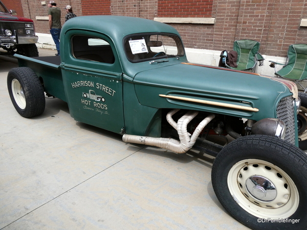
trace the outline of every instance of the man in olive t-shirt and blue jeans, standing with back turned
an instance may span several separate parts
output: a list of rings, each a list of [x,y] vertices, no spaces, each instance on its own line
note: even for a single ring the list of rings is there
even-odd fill
[[[49,2],[49,28],[52,39],[55,43],[55,47],[57,50],[56,56],[60,55],[60,33],[61,33],[61,9],[56,6],[54,1]]]

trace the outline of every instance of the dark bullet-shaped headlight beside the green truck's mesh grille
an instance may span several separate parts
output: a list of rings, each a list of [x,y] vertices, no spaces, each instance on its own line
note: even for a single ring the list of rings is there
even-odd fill
[[[276,118],[261,119],[252,126],[252,134],[277,136],[280,139],[284,139],[286,125],[283,121]]]

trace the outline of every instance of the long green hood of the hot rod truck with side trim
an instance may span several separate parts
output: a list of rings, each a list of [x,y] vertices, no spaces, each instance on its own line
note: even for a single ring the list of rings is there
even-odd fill
[[[262,119],[268,114],[269,117],[275,117],[279,100],[295,95],[291,90],[295,91],[297,88],[292,82],[285,81],[285,84],[276,80],[258,74],[191,63],[160,67],[138,73],[134,77],[140,104],[160,108],[218,111],[232,115],[240,113],[240,116],[251,119],[254,117],[254,120]],[[179,100],[171,97],[178,97]],[[187,98],[192,101],[184,101]],[[243,112],[201,105],[198,100],[251,107],[255,110]]]

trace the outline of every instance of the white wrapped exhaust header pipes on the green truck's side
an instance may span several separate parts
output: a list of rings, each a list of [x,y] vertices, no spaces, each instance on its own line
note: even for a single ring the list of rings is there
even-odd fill
[[[168,149],[170,151],[176,153],[185,153],[190,150],[196,142],[197,137],[200,135],[201,131],[205,128],[205,126],[215,117],[214,114],[210,114],[206,117],[195,129],[193,134],[191,135],[187,131],[187,126],[189,122],[196,117],[198,111],[188,111],[184,116],[182,116],[178,123],[176,123],[172,116],[179,109],[173,109],[169,111],[166,115],[167,122],[177,130],[179,135],[179,140],[177,141],[172,138],[163,138],[163,137],[149,137],[149,136],[138,136],[138,135],[130,135],[124,134],[123,135],[123,142],[127,143],[135,143],[135,144],[142,144],[142,145],[150,145],[156,146],[159,148]]]

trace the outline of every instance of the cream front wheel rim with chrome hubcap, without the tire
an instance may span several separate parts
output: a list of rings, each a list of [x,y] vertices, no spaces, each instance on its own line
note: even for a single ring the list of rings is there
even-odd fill
[[[299,195],[293,180],[265,160],[236,163],[228,173],[227,184],[241,208],[258,218],[288,218],[298,208]]]

